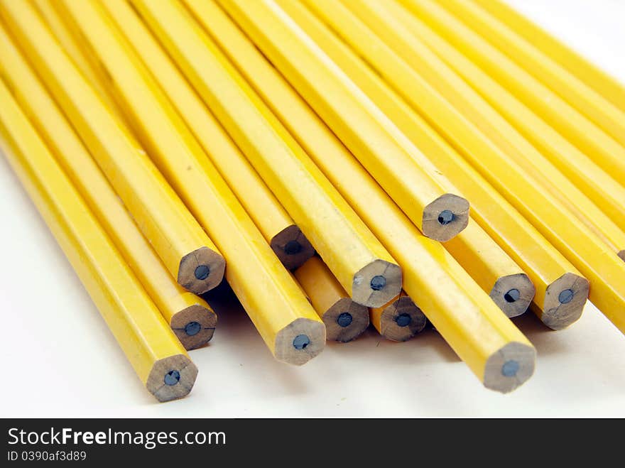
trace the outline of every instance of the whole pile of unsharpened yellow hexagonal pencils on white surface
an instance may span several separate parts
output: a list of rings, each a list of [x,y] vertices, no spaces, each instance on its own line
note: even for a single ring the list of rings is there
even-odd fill
[[[159,401],[222,278],[280,361],[429,321],[504,393],[510,317],[625,331],[625,89],[501,1],[0,13],[1,150]]]

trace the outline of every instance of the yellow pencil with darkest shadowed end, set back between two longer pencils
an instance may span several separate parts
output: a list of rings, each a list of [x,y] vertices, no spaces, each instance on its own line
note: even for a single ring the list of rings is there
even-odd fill
[[[315,254],[312,245],[205,107],[136,12],[124,0],[105,0],[101,4],[178,109],[180,116],[237,195],[278,259],[289,270],[302,265]]]

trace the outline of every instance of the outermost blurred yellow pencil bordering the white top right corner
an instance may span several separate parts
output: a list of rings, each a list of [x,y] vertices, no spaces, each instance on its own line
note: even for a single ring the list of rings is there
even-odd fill
[[[526,40],[531,41],[543,53],[549,55],[570,73],[592,87],[609,102],[625,112],[625,87],[614,77],[608,75],[596,65],[570,49],[565,43],[521,15],[501,0],[477,0],[491,15]]]

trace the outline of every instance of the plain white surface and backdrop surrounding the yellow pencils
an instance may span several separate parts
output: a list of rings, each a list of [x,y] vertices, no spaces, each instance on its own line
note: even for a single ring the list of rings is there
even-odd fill
[[[511,3],[625,82],[624,1]],[[0,219],[1,416],[625,416],[625,339],[592,305],[562,332],[531,312],[515,320],[538,363],[504,396],[432,330],[402,344],[368,331],[303,367],[280,364],[227,293],[214,300],[214,339],[190,353],[192,393],[158,404],[4,158]]]

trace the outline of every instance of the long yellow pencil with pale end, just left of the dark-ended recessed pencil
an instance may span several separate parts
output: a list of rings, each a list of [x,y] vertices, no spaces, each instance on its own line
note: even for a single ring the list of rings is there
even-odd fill
[[[226,278],[276,359],[301,365],[317,356],[325,346],[322,321],[102,6],[55,6],[116,83],[114,98],[158,168],[219,243]]]

